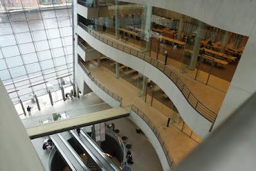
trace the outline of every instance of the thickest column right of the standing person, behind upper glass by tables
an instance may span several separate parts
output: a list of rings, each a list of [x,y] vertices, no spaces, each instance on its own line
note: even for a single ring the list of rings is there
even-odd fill
[[[199,49],[201,46],[201,37],[202,37],[204,31],[205,31],[205,23],[199,21],[198,27],[197,27],[197,34],[196,34],[196,38],[195,38],[195,42],[194,42],[193,53],[190,58],[189,69],[191,69],[191,70],[194,70],[196,67],[196,61],[197,61],[197,57],[199,55]]]

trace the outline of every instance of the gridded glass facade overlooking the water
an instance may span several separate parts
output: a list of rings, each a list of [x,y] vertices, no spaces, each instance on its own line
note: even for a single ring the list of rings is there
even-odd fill
[[[0,78],[19,114],[73,84],[72,1],[0,0]],[[60,91],[61,92],[61,91]],[[56,96],[55,96],[56,94]],[[62,98],[62,96],[60,96]]]

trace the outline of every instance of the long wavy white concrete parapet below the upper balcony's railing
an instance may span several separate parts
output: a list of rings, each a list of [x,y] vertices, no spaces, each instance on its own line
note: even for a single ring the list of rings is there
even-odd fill
[[[188,104],[178,87],[176,87],[176,85],[165,74],[140,58],[108,46],[107,44],[104,44],[104,42],[100,42],[100,40],[97,40],[93,36],[89,35],[89,33],[80,28],[80,26],[77,26],[77,33],[80,37],[82,37],[82,39],[86,40],[90,46],[98,49],[100,53],[125,66],[135,69],[158,84],[159,87],[163,89],[163,91],[170,97],[181,114],[181,117],[187,123],[190,129],[196,132],[196,134],[199,136],[205,138],[205,136],[208,134],[211,123],[197,113],[197,111],[190,104]]]

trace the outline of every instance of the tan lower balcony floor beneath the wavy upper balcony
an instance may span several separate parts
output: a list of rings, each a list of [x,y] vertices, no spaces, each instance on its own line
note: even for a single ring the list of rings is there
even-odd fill
[[[178,164],[179,161],[185,158],[198,145],[197,141],[189,138],[174,125],[166,127],[168,117],[154,107],[151,107],[151,105],[143,102],[141,98],[138,98],[138,92],[134,89],[133,85],[127,84],[122,78],[114,78],[114,74],[104,67],[98,68],[91,63],[87,63],[86,67],[105,87],[123,98],[123,106],[136,105],[136,107],[154,122],[154,125],[158,127],[160,134],[163,136],[163,140],[169,149],[170,157],[174,159],[174,163]],[[201,141],[199,137],[197,138],[198,141]]]

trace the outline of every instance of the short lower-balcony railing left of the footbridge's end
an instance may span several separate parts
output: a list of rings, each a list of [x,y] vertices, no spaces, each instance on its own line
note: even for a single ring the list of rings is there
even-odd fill
[[[79,61],[78,64],[82,67],[82,69],[84,69],[84,72],[86,73],[87,76],[89,76],[91,81],[93,81],[100,89],[102,89],[105,93],[107,93],[107,95],[113,97],[115,100],[120,102],[120,105],[122,105],[122,97],[116,95],[115,93],[113,93],[113,91],[110,91],[104,85],[102,85],[100,82],[98,82],[98,80],[96,80],[96,78],[93,75],[91,75],[91,72],[89,72],[86,69],[86,67],[84,66],[84,64],[82,64],[81,61]]]

